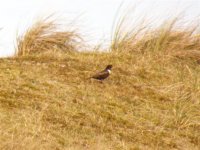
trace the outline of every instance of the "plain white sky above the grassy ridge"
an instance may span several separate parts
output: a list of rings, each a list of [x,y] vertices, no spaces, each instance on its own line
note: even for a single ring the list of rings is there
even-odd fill
[[[164,19],[181,11],[189,20],[200,15],[200,0],[6,0],[0,5],[0,57],[14,54],[17,32],[52,13],[66,22],[78,18],[77,24],[88,44],[108,43],[122,2],[124,7],[119,14],[136,5],[135,18],[148,15]]]

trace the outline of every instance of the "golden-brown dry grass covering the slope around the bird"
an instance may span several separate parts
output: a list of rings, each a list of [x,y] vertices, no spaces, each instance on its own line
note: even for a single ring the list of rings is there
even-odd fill
[[[60,36],[33,25],[0,60],[0,149],[199,149],[200,42],[176,21],[116,29],[106,53],[51,51]],[[87,79],[107,64],[103,84]]]

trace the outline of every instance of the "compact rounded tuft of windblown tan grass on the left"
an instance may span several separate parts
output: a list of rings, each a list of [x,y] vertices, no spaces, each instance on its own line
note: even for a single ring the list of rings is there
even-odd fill
[[[47,17],[34,23],[22,36],[17,37],[16,56],[45,51],[76,51],[82,43],[77,30],[67,29]]]

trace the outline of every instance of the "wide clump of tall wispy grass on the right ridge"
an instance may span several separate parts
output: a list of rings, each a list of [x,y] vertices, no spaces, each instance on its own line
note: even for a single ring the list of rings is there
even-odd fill
[[[187,50],[190,56],[194,53],[199,55],[197,52],[200,50],[199,24],[186,24],[180,17],[174,17],[163,21],[157,27],[150,26],[145,18],[135,21],[135,25],[130,26],[132,20],[134,18],[125,15],[116,22],[112,51],[142,53],[164,51],[168,54],[181,55]]]

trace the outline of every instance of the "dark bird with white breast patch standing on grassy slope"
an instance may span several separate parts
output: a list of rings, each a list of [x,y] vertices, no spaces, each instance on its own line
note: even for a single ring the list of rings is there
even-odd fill
[[[91,76],[90,78],[103,81],[104,79],[109,77],[109,75],[111,74],[111,69],[112,65],[107,65],[107,67],[103,71]]]

